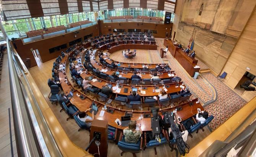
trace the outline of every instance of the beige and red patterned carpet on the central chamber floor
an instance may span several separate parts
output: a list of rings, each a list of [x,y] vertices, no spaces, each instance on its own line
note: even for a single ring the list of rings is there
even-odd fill
[[[193,97],[198,97],[203,103],[212,101],[214,94],[208,84],[214,86],[217,91],[217,100],[207,105],[205,110],[209,115],[213,115],[214,119],[209,124],[212,130],[215,130],[219,125],[223,124],[229,117],[236,113],[246,101],[240,98],[235,92],[229,89],[225,84],[219,81],[214,75],[208,73],[203,77],[208,81],[206,82],[201,76],[194,80],[186,74],[179,63],[173,58],[170,53],[163,59],[160,58],[160,48],[164,48],[164,39],[156,38],[157,50],[137,50],[136,57],[133,59],[126,59],[121,56],[121,52],[114,52],[109,57],[113,60],[128,63],[169,63],[172,70],[182,78],[182,81],[188,86],[193,94]],[[203,62],[198,61],[201,68],[208,68]],[[192,97],[192,98],[193,98]]]

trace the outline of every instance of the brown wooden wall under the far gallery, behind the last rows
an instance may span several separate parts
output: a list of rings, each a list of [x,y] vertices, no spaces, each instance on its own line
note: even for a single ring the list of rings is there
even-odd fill
[[[141,32],[144,32],[144,29],[149,30],[157,30],[157,34],[154,34],[154,37],[156,38],[165,38],[165,33],[170,32],[170,29],[172,28],[171,24],[152,24],[152,23],[140,23],[140,22],[113,22],[113,23],[102,23],[100,22],[100,31],[102,34],[109,33],[109,29],[111,29],[111,32],[113,32],[113,29],[125,29],[126,32],[128,32],[128,29],[141,29]],[[139,24],[139,25],[138,25]],[[166,30],[167,29],[167,30]]]

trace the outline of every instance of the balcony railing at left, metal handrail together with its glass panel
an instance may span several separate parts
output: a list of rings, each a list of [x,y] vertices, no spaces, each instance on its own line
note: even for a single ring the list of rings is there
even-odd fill
[[[8,39],[6,42],[18,156],[62,156],[32,92],[27,69]]]

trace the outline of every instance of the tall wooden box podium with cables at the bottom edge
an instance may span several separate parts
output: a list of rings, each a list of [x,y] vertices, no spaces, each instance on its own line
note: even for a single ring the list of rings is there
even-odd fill
[[[99,145],[99,152],[100,157],[107,157],[107,135],[108,135],[108,122],[103,120],[94,119],[91,125],[91,132],[90,132],[90,141],[94,136],[99,136],[100,139],[98,140],[100,142]],[[95,154],[98,153],[98,147],[95,144],[95,142],[92,143],[92,145],[89,147],[89,153]],[[99,157],[99,154],[95,154],[94,157]]]

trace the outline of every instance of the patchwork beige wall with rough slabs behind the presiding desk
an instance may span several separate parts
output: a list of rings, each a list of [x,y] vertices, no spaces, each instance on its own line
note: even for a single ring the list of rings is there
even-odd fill
[[[202,4],[204,7],[199,16]],[[182,0],[178,18],[175,17],[173,23],[173,31],[177,30],[175,38],[186,48],[193,36],[193,50],[198,59],[219,74],[255,4],[255,0]],[[180,2],[177,10],[179,5]],[[177,19],[180,19],[178,24]]]

